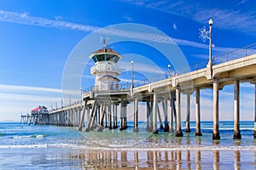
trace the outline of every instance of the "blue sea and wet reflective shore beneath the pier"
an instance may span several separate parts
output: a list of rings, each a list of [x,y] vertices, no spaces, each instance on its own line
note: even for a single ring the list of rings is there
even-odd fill
[[[148,133],[139,123],[90,133],[75,127],[0,122],[0,169],[255,169],[253,122],[241,122],[234,140],[233,122],[220,122],[220,140],[212,140],[212,122],[201,122],[203,136],[181,138],[172,133]],[[183,123],[183,132],[184,132]]]

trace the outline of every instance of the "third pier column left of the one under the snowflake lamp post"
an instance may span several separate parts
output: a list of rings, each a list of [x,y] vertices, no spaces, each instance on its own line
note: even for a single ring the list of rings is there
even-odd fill
[[[176,88],[176,103],[177,103],[177,122],[176,122],[176,136],[182,137],[183,132],[181,130],[181,105],[180,105],[180,89]]]

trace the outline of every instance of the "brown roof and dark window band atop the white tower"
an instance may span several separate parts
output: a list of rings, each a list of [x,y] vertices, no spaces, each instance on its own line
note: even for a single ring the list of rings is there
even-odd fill
[[[113,61],[117,63],[119,59],[122,59],[123,56],[111,48],[101,48],[96,52],[90,54],[90,59],[93,59],[95,62],[98,61]]]

